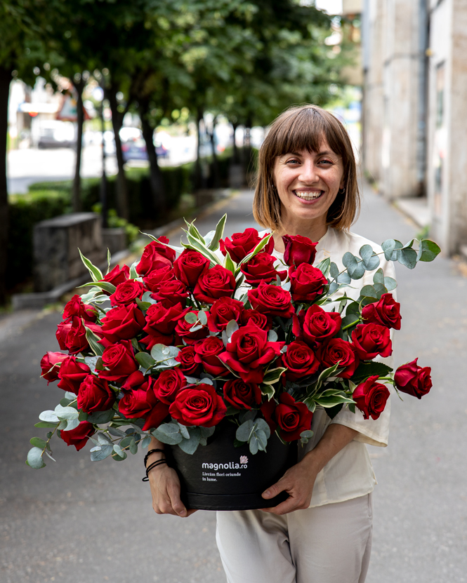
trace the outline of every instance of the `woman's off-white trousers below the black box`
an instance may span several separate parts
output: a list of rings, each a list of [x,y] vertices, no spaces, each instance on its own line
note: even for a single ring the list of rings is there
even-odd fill
[[[217,513],[228,583],[364,583],[371,553],[371,493],[276,516]]]

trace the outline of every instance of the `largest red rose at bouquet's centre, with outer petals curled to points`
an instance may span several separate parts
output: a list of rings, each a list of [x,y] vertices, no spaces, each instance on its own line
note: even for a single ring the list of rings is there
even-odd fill
[[[268,333],[258,326],[243,326],[232,334],[221,361],[244,382],[261,383],[266,365],[280,354],[284,342],[268,342]]]

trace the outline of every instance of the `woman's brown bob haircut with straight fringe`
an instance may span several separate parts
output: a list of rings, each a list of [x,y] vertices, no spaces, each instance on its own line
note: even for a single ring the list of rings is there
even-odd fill
[[[342,123],[317,105],[291,107],[270,125],[258,155],[253,201],[253,215],[261,227],[276,231],[282,226],[281,202],[272,178],[277,156],[305,150],[319,152],[323,138],[331,150],[342,158],[345,187],[345,192],[337,194],[327,212],[327,225],[338,230],[350,229],[360,210],[352,144]]]

